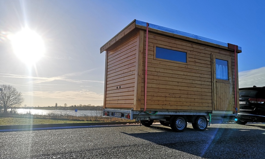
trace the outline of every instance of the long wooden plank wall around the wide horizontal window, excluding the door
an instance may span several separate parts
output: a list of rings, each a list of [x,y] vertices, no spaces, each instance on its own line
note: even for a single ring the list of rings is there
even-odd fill
[[[141,109],[144,108],[146,34],[144,34],[143,39],[144,54]],[[186,50],[184,52],[187,52],[187,64],[154,59],[154,47],[156,45],[160,47],[165,46],[165,48],[173,50]],[[231,52],[155,32],[149,32],[147,110],[212,111],[212,53],[221,56],[231,56],[233,72],[232,81],[234,81],[234,57]]]

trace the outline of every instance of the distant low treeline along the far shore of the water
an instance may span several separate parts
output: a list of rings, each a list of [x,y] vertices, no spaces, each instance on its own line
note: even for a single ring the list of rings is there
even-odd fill
[[[46,110],[102,110],[103,106],[94,105],[72,105],[72,106],[48,106],[48,107],[13,107],[13,109],[46,109]]]

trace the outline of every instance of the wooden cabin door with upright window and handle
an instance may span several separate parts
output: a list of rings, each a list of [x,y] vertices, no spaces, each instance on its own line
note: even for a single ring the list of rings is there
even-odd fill
[[[213,110],[232,111],[233,110],[233,84],[231,57],[213,54]],[[213,113],[214,113],[213,111]]]

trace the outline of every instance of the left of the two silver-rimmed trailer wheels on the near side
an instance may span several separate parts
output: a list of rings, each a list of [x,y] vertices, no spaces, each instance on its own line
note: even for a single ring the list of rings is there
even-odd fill
[[[187,121],[183,116],[175,116],[170,126],[176,132],[183,132],[187,127]]]

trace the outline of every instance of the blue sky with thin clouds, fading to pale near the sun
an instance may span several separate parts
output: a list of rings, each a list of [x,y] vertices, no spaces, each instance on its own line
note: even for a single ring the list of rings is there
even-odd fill
[[[0,84],[21,92],[22,106],[103,105],[100,47],[134,19],[242,47],[239,88],[265,86],[263,0],[0,0]],[[34,65],[12,45],[25,27],[44,43]]]

